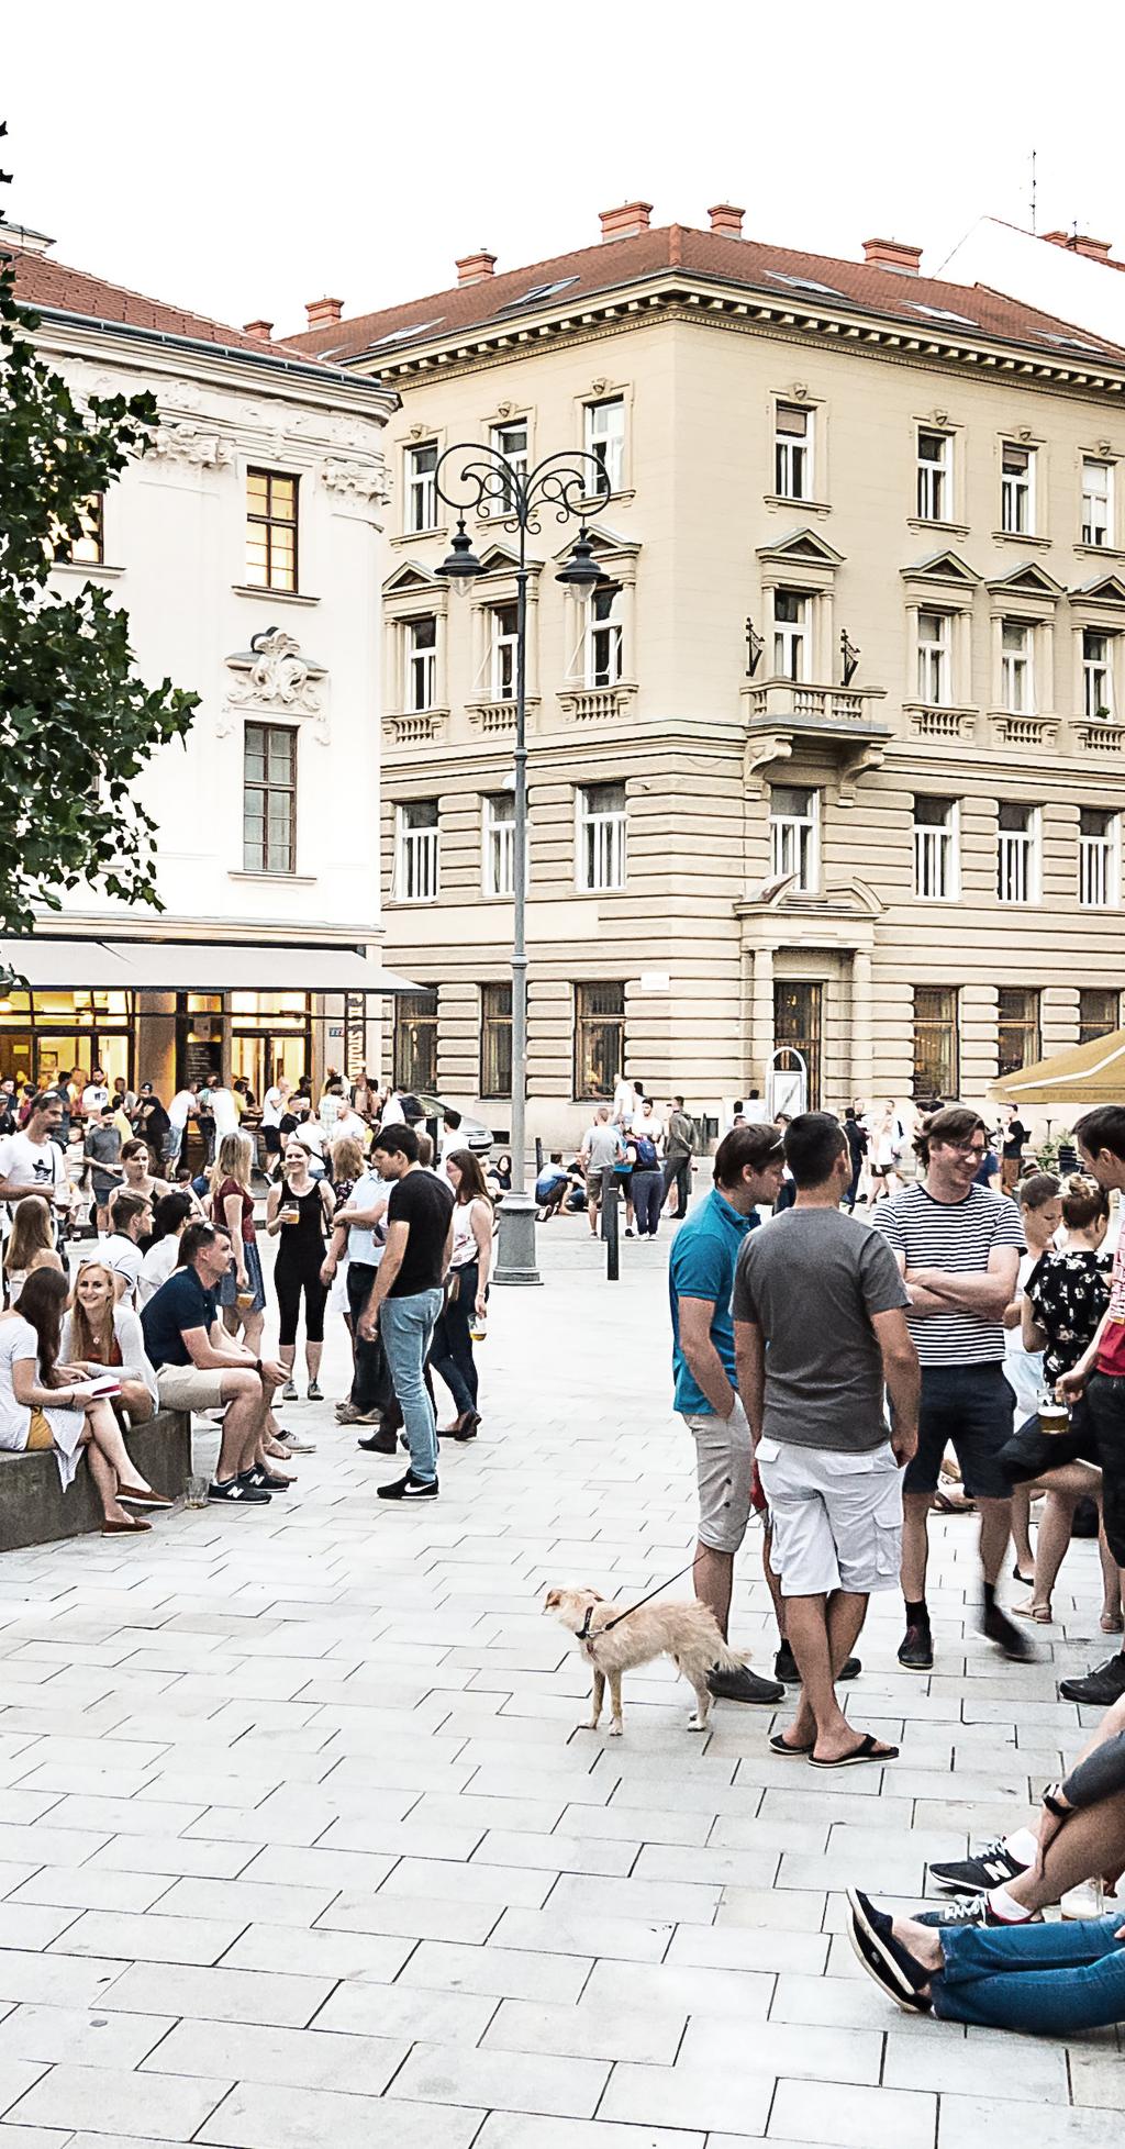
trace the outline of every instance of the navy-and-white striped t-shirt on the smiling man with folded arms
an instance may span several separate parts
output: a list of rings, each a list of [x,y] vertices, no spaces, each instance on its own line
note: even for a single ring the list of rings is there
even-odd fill
[[[947,1268],[953,1277],[983,1274],[994,1246],[1024,1253],[1020,1210],[1007,1195],[970,1186],[964,1201],[934,1201],[925,1186],[904,1186],[880,1201],[872,1223],[885,1234],[906,1268]],[[906,1326],[921,1365],[1003,1362],[1005,1324],[979,1313],[908,1313]]]

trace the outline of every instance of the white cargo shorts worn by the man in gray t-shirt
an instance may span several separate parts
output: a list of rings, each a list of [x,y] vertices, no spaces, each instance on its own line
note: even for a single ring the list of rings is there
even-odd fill
[[[891,1442],[863,1455],[760,1440],[781,1597],[893,1590],[902,1562],[902,1470]]]

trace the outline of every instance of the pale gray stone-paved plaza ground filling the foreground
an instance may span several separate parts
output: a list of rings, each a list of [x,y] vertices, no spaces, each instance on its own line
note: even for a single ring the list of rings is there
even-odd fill
[[[318,1453],[268,1513],[4,1558],[0,2149],[1116,2149],[1114,2031],[908,2020],[842,1932],[848,1883],[917,1900],[1073,1754],[1093,1545],[1020,1670],[970,1631],[975,1524],[934,1524],[934,1674],[887,1597],[850,1689],[893,1766],[773,1758],[788,1711],[693,1739],[670,1665],[627,1676],[625,1739],[575,1730],[545,1588],[691,1558],[666,1253],[608,1285],[582,1221],[541,1234],[432,1506],[376,1504],[395,1466],[301,1403]],[[766,1670],[758,1562],[732,1638]]]

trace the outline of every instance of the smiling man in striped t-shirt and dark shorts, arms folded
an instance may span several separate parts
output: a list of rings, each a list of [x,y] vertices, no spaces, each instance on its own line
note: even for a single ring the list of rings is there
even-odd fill
[[[906,1633],[897,1661],[906,1672],[930,1672],[934,1640],[925,1603],[927,1521],[947,1442],[962,1466],[964,1489],[981,1513],[981,1631],[1005,1657],[1020,1661],[1033,1655],[996,1603],[1011,1534],[1011,1487],[998,1463],[1013,1427],[1003,1315],[1016,1296],[1024,1234],[1016,1203],[975,1184],[988,1152],[985,1124],[977,1111],[945,1105],[930,1113],[917,1150],[925,1176],[882,1201],[872,1223],[897,1255],[910,1292],[906,1324],[921,1362],[919,1451],[902,1483]]]

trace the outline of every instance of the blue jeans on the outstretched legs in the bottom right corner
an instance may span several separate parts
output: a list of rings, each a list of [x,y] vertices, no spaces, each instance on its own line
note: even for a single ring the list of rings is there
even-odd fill
[[[943,2022],[1073,2037],[1125,2022],[1125,1913],[1073,1926],[953,1926],[930,1979]],[[1035,2132],[1035,2130],[1033,2130]]]

